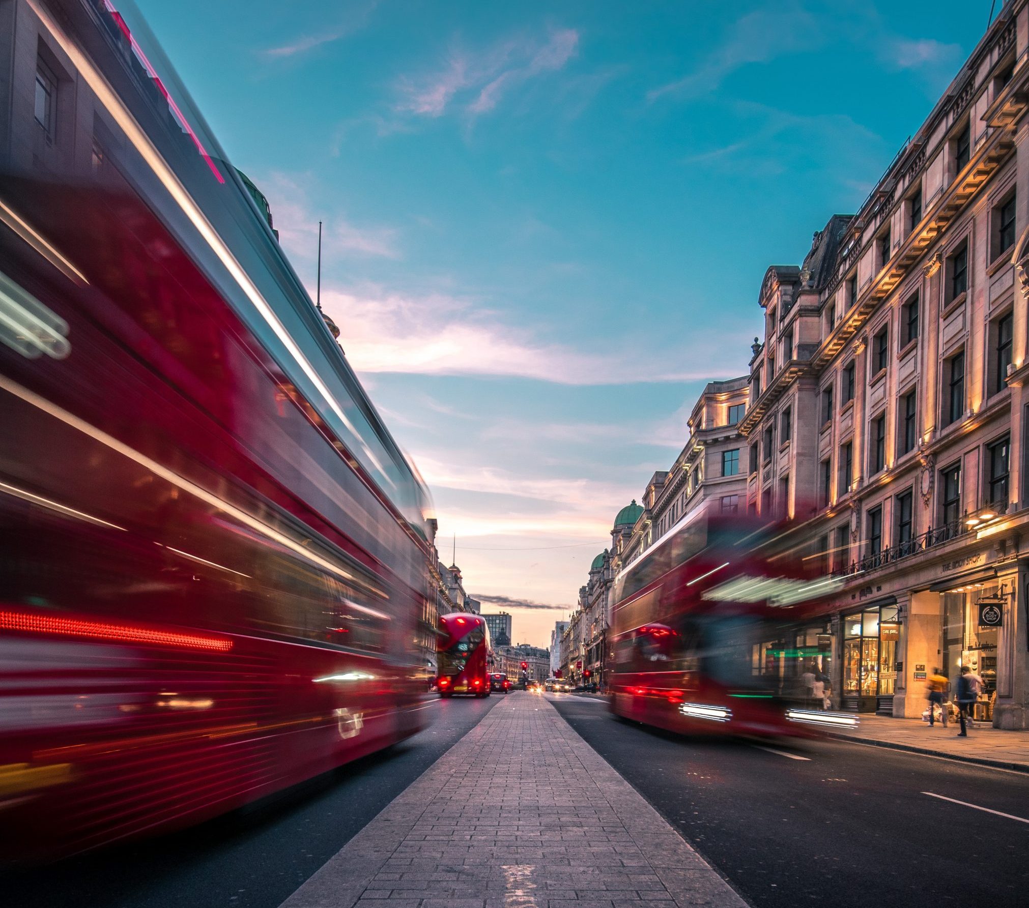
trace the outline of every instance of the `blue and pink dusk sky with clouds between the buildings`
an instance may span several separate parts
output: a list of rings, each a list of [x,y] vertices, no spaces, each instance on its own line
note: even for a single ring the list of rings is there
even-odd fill
[[[990,13],[138,2],[312,296],[324,222],[323,306],[441,557],[544,646],[705,382],[746,371],[766,268],[858,208]]]

